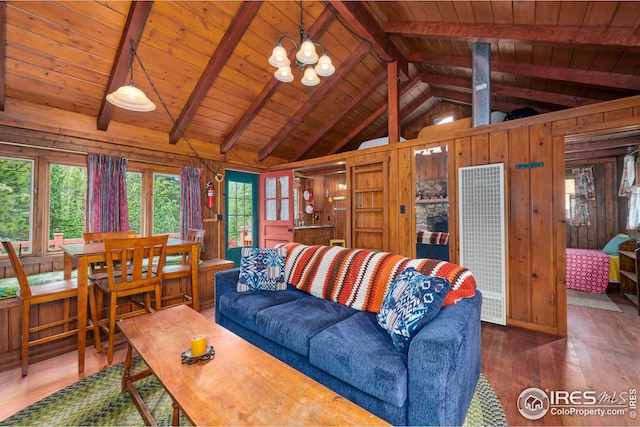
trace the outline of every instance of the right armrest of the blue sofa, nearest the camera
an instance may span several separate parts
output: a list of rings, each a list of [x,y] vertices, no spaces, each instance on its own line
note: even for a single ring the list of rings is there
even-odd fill
[[[411,340],[409,425],[462,425],[480,378],[482,295],[443,307]]]

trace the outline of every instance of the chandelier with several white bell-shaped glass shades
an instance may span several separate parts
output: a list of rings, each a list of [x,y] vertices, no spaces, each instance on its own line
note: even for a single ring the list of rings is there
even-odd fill
[[[298,26],[298,30],[300,31],[299,43],[296,43],[295,39],[287,35],[281,36],[269,57],[269,64],[277,68],[273,73],[276,79],[284,83],[293,81],[289,52],[285,50],[282,45],[284,40],[289,40],[298,51],[296,53],[295,64],[300,71],[303,72],[300,82],[305,86],[315,86],[320,83],[320,78],[318,76],[330,76],[336,72],[336,67],[331,63],[331,58],[327,54],[324,46],[311,40],[309,32],[305,33],[304,24],[302,22],[302,12],[302,1],[300,1],[300,25]],[[322,50],[322,54],[320,56],[318,56],[318,53],[316,52],[316,46]]]

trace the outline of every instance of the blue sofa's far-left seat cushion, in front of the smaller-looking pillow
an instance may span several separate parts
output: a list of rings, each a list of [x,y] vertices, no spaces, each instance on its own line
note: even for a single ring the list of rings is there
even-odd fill
[[[234,322],[255,332],[256,315],[260,310],[306,297],[307,294],[292,287],[279,292],[230,292],[220,297],[218,310]]]

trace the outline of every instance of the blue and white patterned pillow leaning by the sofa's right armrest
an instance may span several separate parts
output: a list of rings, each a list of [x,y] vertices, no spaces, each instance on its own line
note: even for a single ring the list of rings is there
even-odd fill
[[[436,317],[450,286],[447,279],[425,276],[413,267],[398,275],[377,315],[378,324],[389,332],[398,350],[409,351],[411,338]]]

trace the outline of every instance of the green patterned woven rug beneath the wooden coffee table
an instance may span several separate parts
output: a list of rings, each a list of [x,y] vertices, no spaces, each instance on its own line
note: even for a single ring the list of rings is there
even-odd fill
[[[144,368],[144,363],[136,357],[133,371]],[[120,391],[122,370],[123,365],[119,363],[93,374],[0,421],[0,425],[143,426],[129,394]],[[158,425],[170,426],[171,399],[156,378],[140,380],[136,388]],[[180,425],[191,425],[182,414]],[[484,376],[478,381],[464,425],[506,426],[502,406]]]

